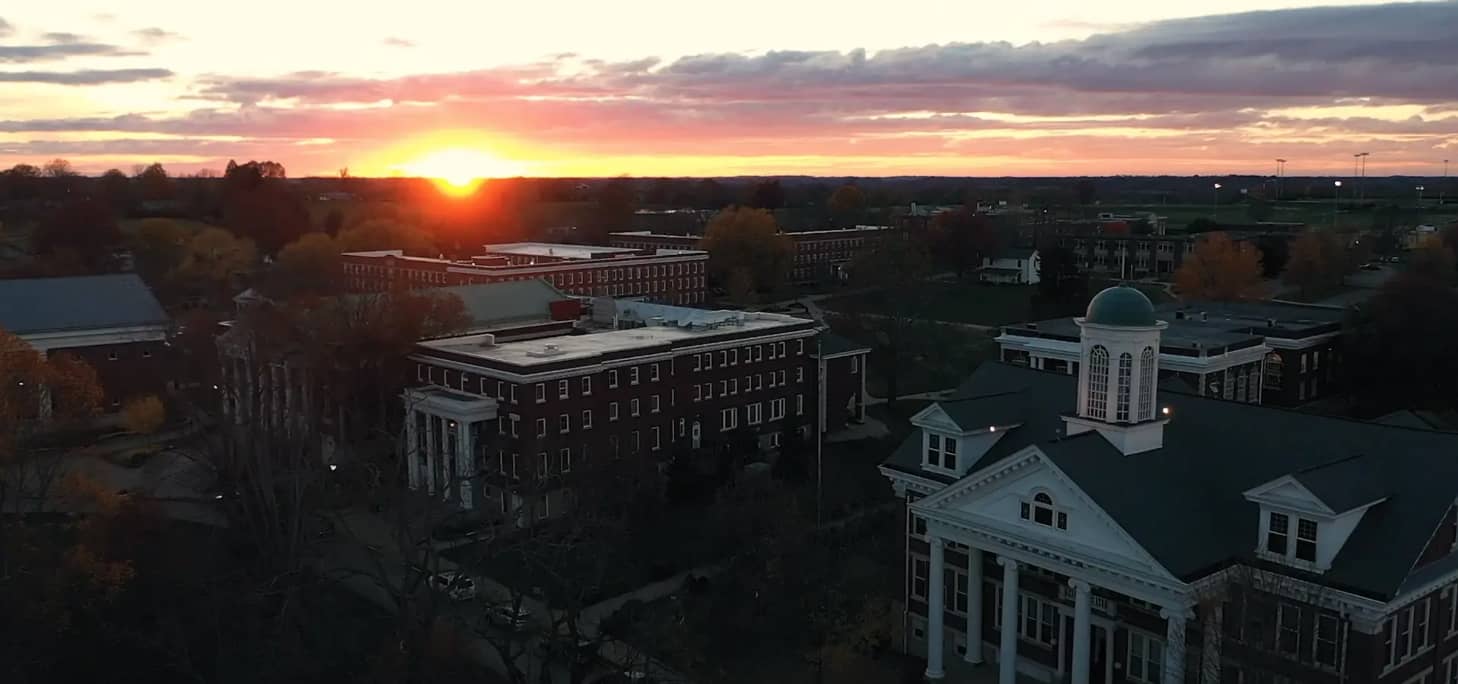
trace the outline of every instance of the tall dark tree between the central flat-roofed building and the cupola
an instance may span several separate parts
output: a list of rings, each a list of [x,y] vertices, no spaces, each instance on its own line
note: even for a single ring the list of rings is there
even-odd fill
[[[929,268],[921,245],[910,239],[885,239],[860,252],[850,264],[859,287],[872,289],[863,302],[860,319],[872,330],[872,356],[886,378],[886,404],[895,405],[901,368],[910,360],[914,327],[923,316],[919,293]]]

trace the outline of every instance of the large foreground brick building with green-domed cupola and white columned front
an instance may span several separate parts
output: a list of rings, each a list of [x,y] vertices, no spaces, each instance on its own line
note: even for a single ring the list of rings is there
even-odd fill
[[[927,678],[1458,677],[1458,435],[1161,395],[1128,287],[1077,325],[1077,373],[983,365],[881,467]]]

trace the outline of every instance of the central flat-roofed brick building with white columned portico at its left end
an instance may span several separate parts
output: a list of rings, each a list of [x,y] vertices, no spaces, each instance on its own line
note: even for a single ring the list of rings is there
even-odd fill
[[[825,427],[863,411],[868,350],[816,359],[814,321],[599,299],[580,328],[420,343],[404,398],[411,486],[525,525],[569,509],[572,474],[592,459],[774,449],[815,424],[821,368],[837,392]]]

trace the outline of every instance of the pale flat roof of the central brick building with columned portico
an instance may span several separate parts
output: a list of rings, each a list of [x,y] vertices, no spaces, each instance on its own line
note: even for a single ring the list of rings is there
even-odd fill
[[[733,315],[739,312],[722,314]],[[811,319],[795,318],[784,314],[745,312],[742,322],[720,327],[685,328],[678,325],[649,325],[642,328],[605,330],[602,333],[507,341],[488,347],[483,346],[487,335],[459,335],[423,341],[420,343],[420,347],[513,366],[542,366],[548,363],[586,360],[608,356],[615,351],[668,347],[682,341],[710,343],[714,337],[726,337],[741,333],[774,333],[780,330],[789,333],[793,328],[802,328],[808,333],[814,333],[815,328],[812,325],[814,321]]]

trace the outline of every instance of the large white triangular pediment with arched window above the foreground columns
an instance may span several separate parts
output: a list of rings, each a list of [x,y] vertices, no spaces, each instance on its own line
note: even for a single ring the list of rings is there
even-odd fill
[[[1024,519],[1037,494],[1053,502],[1053,524]],[[1016,540],[1073,559],[1089,559],[1162,580],[1178,582],[1137,540],[1099,508],[1037,446],[981,468],[913,505],[929,519]],[[1034,513],[1029,509],[1029,513]],[[1059,513],[1066,529],[1059,528]]]

